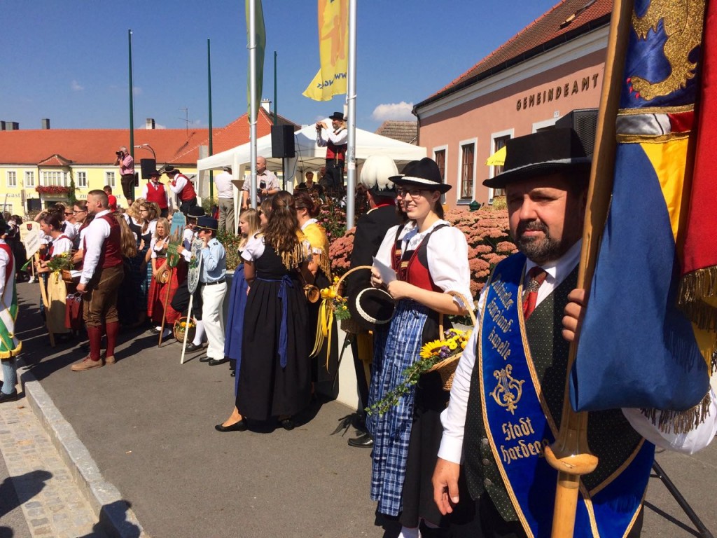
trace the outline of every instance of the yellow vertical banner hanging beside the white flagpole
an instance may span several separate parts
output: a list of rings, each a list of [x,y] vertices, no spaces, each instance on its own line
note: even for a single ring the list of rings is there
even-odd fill
[[[328,101],[346,93],[348,0],[318,0],[318,48],[321,67],[302,95]]]

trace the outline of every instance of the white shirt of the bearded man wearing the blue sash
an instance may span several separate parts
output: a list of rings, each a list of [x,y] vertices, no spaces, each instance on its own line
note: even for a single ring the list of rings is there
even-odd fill
[[[555,288],[557,288],[563,280],[574,270],[580,260],[580,249],[582,241],[576,242],[568,252],[566,252],[556,262],[546,263],[541,267],[546,270],[546,279],[538,288],[538,298],[536,306],[549,296]],[[526,261],[526,273],[533,268],[536,263],[531,260]],[[483,313],[483,304],[485,303],[485,293],[488,288],[483,288],[478,300],[478,312],[476,319],[478,327],[481,324],[481,314]],[[441,413],[441,423],[443,424],[443,437],[441,439],[438,457],[452,463],[461,463],[463,451],[463,432],[465,430],[465,415],[468,402],[468,393],[470,392],[470,377],[473,374],[475,366],[475,342],[478,338],[478,330],[474,330],[470,336],[470,340],[465,346],[458,367],[453,378],[453,385],[450,391],[450,401],[448,407]],[[642,437],[662,448],[675,450],[678,452],[696,452],[706,447],[714,437],[717,431],[717,405],[715,397],[712,397],[712,403],[709,410],[709,417],[699,428],[688,434],[670,435],[661,432],[652,421],[642,415],[640,410],[626,409],[622,410],[632,428]]]

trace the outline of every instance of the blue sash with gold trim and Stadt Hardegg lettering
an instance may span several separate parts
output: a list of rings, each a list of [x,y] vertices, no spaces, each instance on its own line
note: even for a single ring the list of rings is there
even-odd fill
[[[528,537],[549,537],[557,471],[543,448],[558,428],[541,395],[521,304],[525,256],[503,260],[493,272],[478,346],[483,423],[495,463]],[[642,442],[599,486],[581,483],[575,537],[622,537],[640,511],[654,446]]]

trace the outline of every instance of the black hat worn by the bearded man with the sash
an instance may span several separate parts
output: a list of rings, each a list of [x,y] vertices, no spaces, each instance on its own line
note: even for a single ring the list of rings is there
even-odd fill
[[[503,189],[515,181],[538,176],[589,171],[592,159],[571,128],[555,128],[511,138],[505,145],[503,173],[483,181],[485,187]]]

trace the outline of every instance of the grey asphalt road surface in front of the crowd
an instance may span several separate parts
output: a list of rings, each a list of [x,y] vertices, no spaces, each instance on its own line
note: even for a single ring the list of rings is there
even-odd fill
[[[33,410],[42,417],[56,406],[62,420],[43,419],[43,426],[54,424],[57,432],[67,420],[76,433],[68,452],[85,450],[73,461],[96,469],[92,480],[104,484],[82,486],[95,514],[105,508],[98,491],[112,490],[118,506],[131,505],[134,534],[125,535],[138,536],[142,528],[153,538],[395,535],[374,525],[370,451],[346,445],[352,429],[336,432],[350,409],[336,402],[314,405],[291,432],[217,433],[214,425],[229,415],[234,401],[226,364],[209,367],[194,354],[180,366],[179,345],[157,348],[156,336],[135,332],[120,335],[117,364],[71,372],[69,365],[82,353],[74,344],[49,347],[36,292],[37,286],[19,285],[18,331],[28,365],[23,376],[29,372],[39,380],[29,384],[31,399],[36,387],[47,397]],[[52,434],[52,442],[63,435]],[[706,527],[717,532],[717,443],[695,456],[662,453],[657,461]],[[80,475],[72,471],[75,480]],[[646,506],[643,537],[696,535],[656,478]]]

